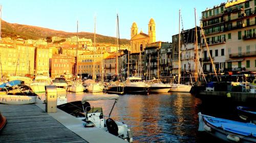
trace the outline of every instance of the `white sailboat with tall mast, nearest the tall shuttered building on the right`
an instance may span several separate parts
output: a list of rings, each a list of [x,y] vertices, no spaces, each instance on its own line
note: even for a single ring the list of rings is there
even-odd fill
[[[170,92],[190,92],[191,85],[180,84],[180,10],[179,10],[179,69],[178,69],[178,83],[170,83]]]

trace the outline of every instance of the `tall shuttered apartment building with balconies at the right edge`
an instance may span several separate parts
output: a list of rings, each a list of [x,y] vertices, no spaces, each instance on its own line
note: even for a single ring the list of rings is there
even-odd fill
[[[204,71],[213,71],[209,55],[218,71],[256,71],[255,10],[256,0],[237,0],[202,12]]]

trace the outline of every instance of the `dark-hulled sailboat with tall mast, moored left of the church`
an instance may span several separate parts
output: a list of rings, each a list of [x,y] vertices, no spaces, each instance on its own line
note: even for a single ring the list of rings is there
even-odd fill
[[[117,76],[117,81],[111,82],[108,85],[108,89],[106,90],[107,93],[110,94],[124,94],[124,84],[123,82],[119,81],[119,76],[118,76],[118,51],[120,50],[120,41],[119,41],[119,20],[118,20],[118,14],[117,14],[117,36],[116,36],[116,76]],[[119,46],[119,50],[118,50]]]

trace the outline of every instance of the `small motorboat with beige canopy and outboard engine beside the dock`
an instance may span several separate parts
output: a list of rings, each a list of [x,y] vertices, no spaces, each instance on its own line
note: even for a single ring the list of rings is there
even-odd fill
[[[123,122],[117,122],[110,118],[112,110],[117,103],[118,95],[88,95],[82,98],[82,101],[74,101],[58,105],[57,108],[82,120],[86,128],[96,127],[116,135],[128,142],[133,142],[132,131]],[[115,100],[114,105],[106,117],[103,115],[102,107],[91,106],[87,101]]]

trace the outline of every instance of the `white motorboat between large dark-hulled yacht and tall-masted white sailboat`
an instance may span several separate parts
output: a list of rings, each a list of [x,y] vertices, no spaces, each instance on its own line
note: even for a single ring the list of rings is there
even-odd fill
[[[170,90],[170,84],[164,84],[159,79],[148,80],[147,84],[150,85],[150,92],[153,93],[167,93]]]

